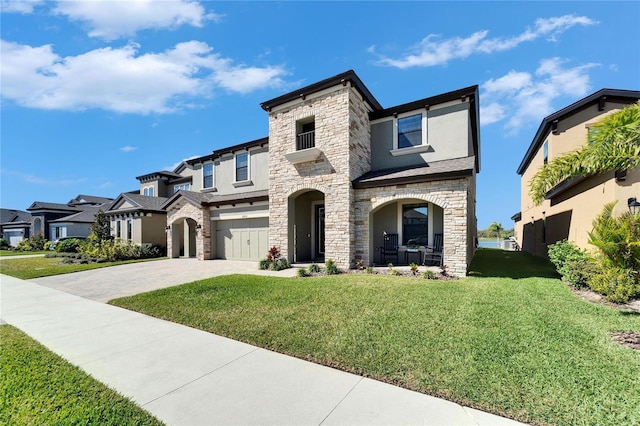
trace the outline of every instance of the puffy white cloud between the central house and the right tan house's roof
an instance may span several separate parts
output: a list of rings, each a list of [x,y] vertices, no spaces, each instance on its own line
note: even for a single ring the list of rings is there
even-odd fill
[[[585,96],[591,90],[588,70],[597,64],[566,68],[565,63],[560,58],[543,59],[534,74],[510,71],[486,81],[481,85],[481,97],[487,105],[481,110],[482,125],[501,121],[507,117],[505,111],[509,111],[504,127],[509,134],[516,134],[523,125],[537,126],[540,117],[555,111],[556,99],[576,100]]]

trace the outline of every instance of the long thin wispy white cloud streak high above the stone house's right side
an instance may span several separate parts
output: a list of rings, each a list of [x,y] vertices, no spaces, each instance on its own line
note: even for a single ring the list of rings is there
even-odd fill
[[[557,40],[563,32],[576,25],[595,25],[596,21],[586,16],[564,15],[548,19],[537,19],[533,29],[527,28],[521,34],[505,38],[487,38],[489,31],[477,31],[467,37],[441,39],[430,34],[420,43],[413,46],[408,53],[398,59],[379,55],[378,63],[396,68],[430,67],[444,65],[454,59],[464,59],[474,53],[491,54],[517,47],[518,45],[546,37],[549,41]],[[368,51],[375,54],[375,46]]]

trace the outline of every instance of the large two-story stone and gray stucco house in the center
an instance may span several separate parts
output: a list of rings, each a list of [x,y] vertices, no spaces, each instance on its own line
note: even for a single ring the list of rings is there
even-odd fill
[[[443,234],[461,276],[475,250],[478,102],[471,86],[383,108],[347,71],[264,102],[268,138],[139,179],[154,196],[178,189],[161,206],[171,257],[258,260],[278,246],[348,268],[379,264],[385,233],[405,245]]]

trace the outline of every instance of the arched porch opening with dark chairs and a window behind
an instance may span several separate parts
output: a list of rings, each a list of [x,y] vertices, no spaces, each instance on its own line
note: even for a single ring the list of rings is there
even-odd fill
[[[369,213],[370,261],[376,265],[421,264],[425,248],[432,247],[436,235],[443,232],[444,210],[437,204],[419,198],[394,199],[381,204]],[[400,247],[388,257],[383,255],[387,234],[397,235]]]

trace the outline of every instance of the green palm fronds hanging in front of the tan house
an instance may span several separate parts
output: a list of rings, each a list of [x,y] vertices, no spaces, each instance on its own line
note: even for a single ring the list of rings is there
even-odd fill
[[[533,176],[529,194],[536,205],[567,179],[638,167],[640,101],[602,118],[589,130],[588,137],[581,149],[553,159]]]

